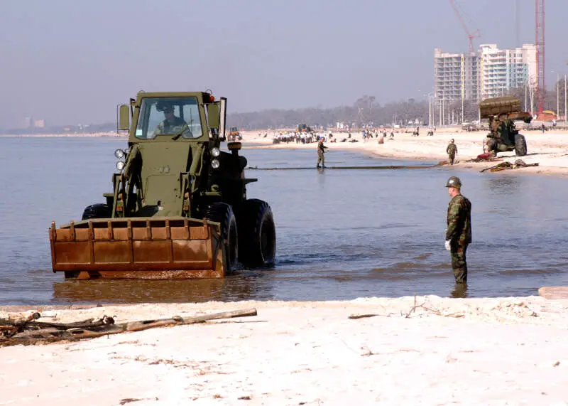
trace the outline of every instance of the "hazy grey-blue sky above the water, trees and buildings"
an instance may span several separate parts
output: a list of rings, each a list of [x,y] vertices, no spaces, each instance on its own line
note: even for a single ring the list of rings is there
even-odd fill
[[[455,0],[480,43],[535,41],[534,0]],[[518,6],[517,6],[518,5]],[[546,75],[568,73],[567,0],[546,0]],[[518,21],[518,23],[515,23]],[[434,48],[467,50],[449,0],[0,2],[0,127],[116,120],[139,90],[227,97],[228,112],[386,103],[433,90]]]

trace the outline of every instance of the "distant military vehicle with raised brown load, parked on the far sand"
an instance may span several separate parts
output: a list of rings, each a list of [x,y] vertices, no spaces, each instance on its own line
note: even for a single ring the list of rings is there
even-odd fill
[[[532,117],[522,112],[517,97],[492,97],[479,103],[479,117],[489,120],[486,144],[493,154],[515,151],[517,156],[527,154],[525,136],[519,134],[515,121],[530,123]]]

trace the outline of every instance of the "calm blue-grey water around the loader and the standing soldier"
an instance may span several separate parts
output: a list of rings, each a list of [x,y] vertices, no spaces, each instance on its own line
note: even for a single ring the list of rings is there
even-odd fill
[[[271,204],[276,266],[226,279],[65,281],[51,272],[48,227],[78,220],[111,191],[121,139],[0,138],[0,304],[323,300],[451,296],[444,250],[445,181],[457,175],[473,205],[468,297],[525,296],[568,284],[566,180],[522,170],[261,171],[249,197]],[[334,151],[328,166],[417,165]],[[314,150],[245,149],[250,166],[315,166]],[[421,165],[425,164],[423,162]]]

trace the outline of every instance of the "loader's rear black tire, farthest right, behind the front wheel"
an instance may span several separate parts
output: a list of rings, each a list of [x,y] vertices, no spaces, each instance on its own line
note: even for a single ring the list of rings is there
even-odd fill
[[[276,229],[271,206],[265,201],[249,199],[239,213],[241,253],[246,267],[271,267],[276,254]]]

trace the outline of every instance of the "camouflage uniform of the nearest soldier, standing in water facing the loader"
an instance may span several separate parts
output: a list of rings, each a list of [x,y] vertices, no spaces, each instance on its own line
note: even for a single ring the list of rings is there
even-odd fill
[[[457,195],[448,204],[446,241],[450,242],[456,283],[467,282],[466,250],[471,242],[471,202]]]

